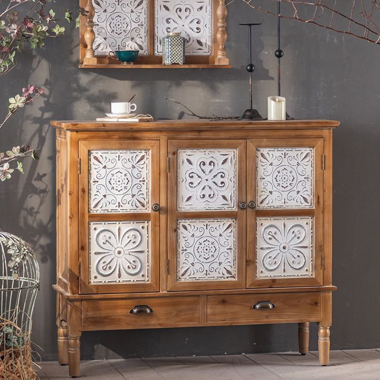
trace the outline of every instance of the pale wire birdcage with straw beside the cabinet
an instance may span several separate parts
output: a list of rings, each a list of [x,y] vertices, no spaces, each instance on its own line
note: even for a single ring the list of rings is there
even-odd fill
[[[0,379],[34,380],[30,335],[40,270],[30,246],[0,231]]]

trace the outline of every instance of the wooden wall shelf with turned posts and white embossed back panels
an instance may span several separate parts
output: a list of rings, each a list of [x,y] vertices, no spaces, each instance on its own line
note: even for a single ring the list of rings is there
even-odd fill
[[[99,2],[93,2],[93,0],[79,0],[79,3],[80,7],[86,11],[86,17],[81,17],[80,19],[79,28],[80,68],[231,68],[230,60],[227,57],[227,51],[225,49],[225,42],[227,40],[226,18],[228,13],[227,7],[225,6],[226,0],[202,0],[200,2],[202,6],[198,9],[194,8],[193,11],[189,10],[192,14],[193,21],[189,21],[189,19],[183,25],[177,23],[179,29],[175,29],[175,31],[182,32],[183,35],[188,35],[188,33],[193,35],[191,29],[186,29],[189,28],[187,24],[194,22],[194,25],[198,25],[198,21],[201,22],[201,20],[203,20],[199,27],[199,34],[192,37],[193,40],[195,39],[194,46],[198,44],[198,48],[196,49],[192,44],[189,44],[186,48],[187,64],[181,66],[162,65],[162,50],[160,50],[161,48],[159,44],[157,44],[157,41],[161,41],[162,39],[160,30],[161,32],[165,30],[169,31],[169,29],[167,29],[169,26],[165,24],[163,17],[159,16],[159,14],[164,12],[165,14],[168,13],[167,17],[174,17],[174,19],[179,17],[180,19],[180,17],[183,16],[182,13],[187,12],[184,10],[181,11],[180,5],[175,6],[176,2],[167,0],[141,0],[139,2],[132,2],[136,3],[136,7],[139,8],[140,18],[138,18],[138,20],[140,21],[138,22],[145,30],[144,35],[140,33],[141,35],[136,39],[140,45],[136,45],[135,42],[132,43],[132,41],[135,41],[136,36],[127,33],[123,36],[123,39],[120,39],[119,36],[116,38],[115,30],[112,29],[117,28],[116,21],[112,21],[112,15],[118,15],[118,22],[127,22],[124,21],[124,19],[129,20],[129,15],[126,13],[126,9],[129,9],[129,6],[126,9],[118,6],[120,9],[115,10],[112,7],[104,7],[104,4],[107,2],[100,2],[100,4]],[[192,4],[192,2],[189,3]],[[180,13],[179,16],[178,12]],[[99,15],[101,15],[101,17]],[[189,17],[189,15],[186,13],[186,18],[187,17]],[[107,22],[110,22],[111,25],[108,25]],[[128,22],[130,23],[131,21],[129,20]],[[176,23],[175,20],[172,21],[170,28],[173,22]],[[139,27],[140,24],[138,24]],[[182,22],[180,22],[180,24],[182,24]],[[106,29],[107,31],[104,34],[99,28],[101,30]],[[118,30],[116,30],[116,32],[118,32]],[[111,41],[113,41],[113,43],[111,43]],[[135,65],[122,66],[115,64],[114,61],[110,61],[108,52],[121,49],[140,51]]]

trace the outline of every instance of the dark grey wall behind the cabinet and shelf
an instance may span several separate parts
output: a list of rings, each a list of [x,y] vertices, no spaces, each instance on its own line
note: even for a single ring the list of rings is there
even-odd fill
[[[75,9],[74,0],[58,7]],[[56,7],[56,8],[58,8]],[[177,119],[182,109],[200,114],[239,115],[247,108],[246,29],[254,28],[254,102],[266,115],[267,96],[276,93],[276,19],[230,6],[227,49],[231,70],[78,69],[78,30],[49,41],[37,52],[25,49],[22,62],[0,82],[0,111],[27,83],[47,95],[20,110],[0,133],[0,151],[23,143],[41,146],[41,160],[25,160],[24,176],[0,184],[0,228],[34,247],[42,283],[34,313],[33,340],[42,357],[56,359],[55,293],[55,133],[50,120],[95,119],[109,102],[136,93],[139,111],[156,119]],[[380,47],[314,25],[283,23],[283,95],[297,119],[336,119],[333,137],[333,295],[332,349],[380,346],[379,225]],[[376,190],[377,189],[377,190]],[[88,332],[84,359],[104,357],[234,354],[296,350],[296,326],[239,326]],[[316,330],[311,348],[316,349]]]

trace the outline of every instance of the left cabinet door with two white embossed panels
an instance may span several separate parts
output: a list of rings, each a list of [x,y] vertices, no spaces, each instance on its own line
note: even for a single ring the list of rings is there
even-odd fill
[[[159,290],[159,141],[80,141],[80,292]]]

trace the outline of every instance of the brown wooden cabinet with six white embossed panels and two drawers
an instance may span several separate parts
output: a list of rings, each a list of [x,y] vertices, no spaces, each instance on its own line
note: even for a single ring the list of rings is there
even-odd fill
[[[334,121],[52,122],[59,362],[85,330],[331,325]]]

